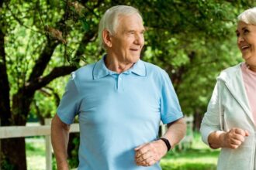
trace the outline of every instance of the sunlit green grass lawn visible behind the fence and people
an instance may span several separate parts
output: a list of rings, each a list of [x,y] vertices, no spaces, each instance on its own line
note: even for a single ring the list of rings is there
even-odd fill
[[[215,170],[220,150],[211,150],[195,134],[192,148],[169,151],[161,160],[163,170]],[[28,170],[46,167],[44,138],[26,138],[26,162]],[[55,165],[55,162],[54,162]],[[55,168],[54,168],[55,169]]]

